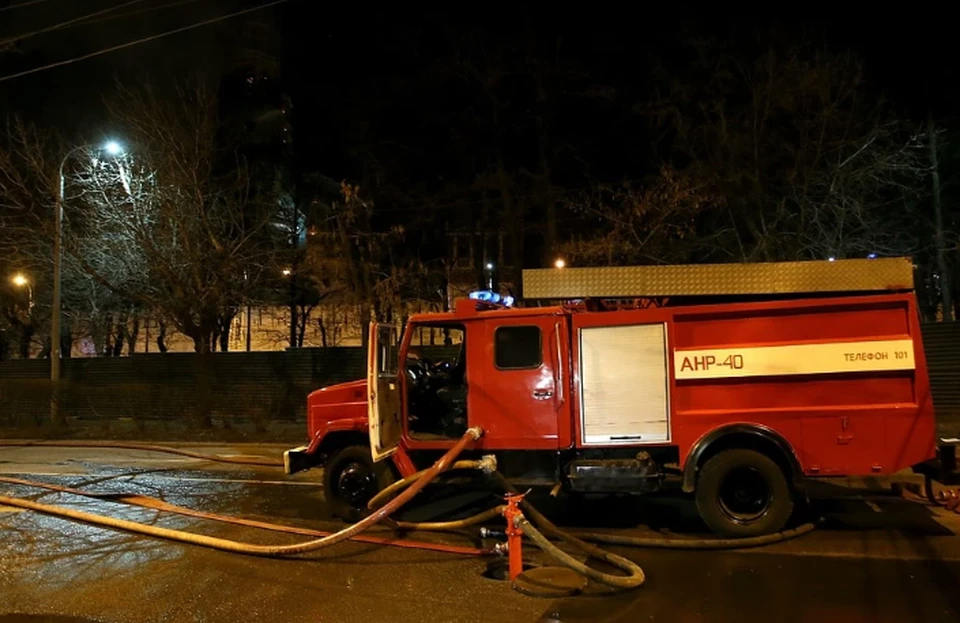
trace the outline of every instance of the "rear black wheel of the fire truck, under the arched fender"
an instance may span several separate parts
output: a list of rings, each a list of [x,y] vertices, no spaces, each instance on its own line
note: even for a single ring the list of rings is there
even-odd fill
[[[695,493],[704,523],[724,537],[778,532],[793,514],[783,470],[754,450],[724,450],[700,469]]]

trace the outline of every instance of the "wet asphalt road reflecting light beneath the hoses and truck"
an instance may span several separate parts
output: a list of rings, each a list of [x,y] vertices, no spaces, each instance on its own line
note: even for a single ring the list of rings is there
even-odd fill
[[[287,479],[276,470],[143,452],[0,448],[0,474],[264,521],[342,526],[309,473]],[[816,493],[827,520],[811,535],[741,552],[617,548],[644,567],[643,587],[622,594],[591,587],[557,600],[525,597],[483,577],[486,563],[477,558],[365,544],[298,559],[253,558],[0,508],[0,623],[957,620],[960,515],[889,493],[836,486]],[[302,540],[4,483],[0,494],[241,541]],[[453,502],[463,498],[434,507]],[[669,498],[554,511],[563,523],[601,529],[645,533],[637,524],[646,517],[661,530],[702,530],[685,502]],[[470,544],[465,536],[422,538]]]

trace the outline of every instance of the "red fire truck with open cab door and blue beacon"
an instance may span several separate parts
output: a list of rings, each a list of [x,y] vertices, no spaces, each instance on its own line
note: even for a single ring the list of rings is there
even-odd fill
[[[310,395],[287,472],[322,467],[328,500],[362,508],[479,426],[465,458],[517,486],[677,482],[712,530],[753,536],[807,478],[956,471],[908,259],[537,269],[523,289],[524,307],[487,293],[414,315],[402,339],[374,326],[367,379]],[[424,355],[425,331],[448,356]]]

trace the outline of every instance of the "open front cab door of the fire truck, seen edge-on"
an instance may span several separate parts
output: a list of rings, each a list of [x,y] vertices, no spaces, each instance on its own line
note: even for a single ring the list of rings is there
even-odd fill
[[[372,323],[367,349],[367,418],[370,454],[381,461],[397,451],[400,421],[399,330]]]

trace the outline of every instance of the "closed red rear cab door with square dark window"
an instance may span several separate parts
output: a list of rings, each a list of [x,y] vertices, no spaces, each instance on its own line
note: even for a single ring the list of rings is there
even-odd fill
[[[483,324],[471,355],[470,425],[489,449],[557,449],[570,443],[565,323],[557,316],[518,316]],[[479,328],[479,327],[478,327]]]

